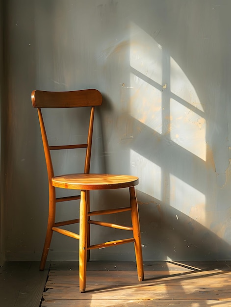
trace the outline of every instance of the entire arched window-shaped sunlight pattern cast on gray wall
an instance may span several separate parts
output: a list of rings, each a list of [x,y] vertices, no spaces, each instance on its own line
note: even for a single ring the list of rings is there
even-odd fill
[[[130,115],[158,132],[147,140],[154,146],[161,140],[161,146],[165,148],[166,145],[166,150],[171,153],[171,146],[177,144],[180,146],[177,152],[184,156],[188,154],[189,163],[196,163],[193,155],[205,161],[204,109],[193,85],[154,37],[133,23],[130,36]],[[161,193],[169,193],[171,206],[195,220],[200,215],[200,223],[205,225],[205,195],[178,179],[176,174],[168,175],[165,161],[158,161],[159,165],[156,165],[130,150],[131,173],[140,178],[138,189],[160,201],[165,197]],[[168,191],[161,192],[161,180],[170,182]]]

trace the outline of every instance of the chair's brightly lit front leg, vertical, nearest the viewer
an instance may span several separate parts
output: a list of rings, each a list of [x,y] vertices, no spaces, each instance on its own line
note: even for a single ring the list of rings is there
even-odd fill
[[[86,269],[87,269],[87,191],[80,192],[80,212],[79,212],[79,292],[86,289]]]

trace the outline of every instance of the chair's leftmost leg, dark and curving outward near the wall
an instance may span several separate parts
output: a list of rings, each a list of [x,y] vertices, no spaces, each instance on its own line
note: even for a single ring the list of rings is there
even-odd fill
[[[53,234],[52,227],[54,226],[54,221],[55,221],[55,204],[56,203],[55,203],[55,188],[54,187],[52,186],[50,187],[49,194],[50,196],[49,196],[49,216],[48,216],[47,234],[46,234],[45,243],[43,247],[43,254],[42,254],[40,266],[39,266],[40,271],[43,271],[45,268],[48,252],[49,252],[50,245],[51,245],[51,238]]]

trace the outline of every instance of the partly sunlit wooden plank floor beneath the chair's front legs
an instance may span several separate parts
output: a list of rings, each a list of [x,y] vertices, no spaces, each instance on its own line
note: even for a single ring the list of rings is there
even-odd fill
[[[231,261],[92,261],[79,293],[77,262],[51,263],[41,307],[231,307]]]

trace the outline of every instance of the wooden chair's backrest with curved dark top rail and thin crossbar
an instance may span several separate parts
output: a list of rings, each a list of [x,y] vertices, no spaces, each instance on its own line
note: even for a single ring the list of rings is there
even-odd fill
[[[51,153],[50,153],[51,150],[86,148],[84,173],[88,174],[90,172],[94,110],[95,106],[102,104],[101,93],[95,89],[69,91],[69,92],[48,92],[48,91],[36,90],[31,93],[31,101],[33,107],[37,108],[38,110],[39,123],[41,128],[49,182],[51,182],[51,178],[54,177],[54,171],[53,171]],[[87,143],[50,146],[47,139],[41,108],[73,108],[73,107],[91,107]]]

